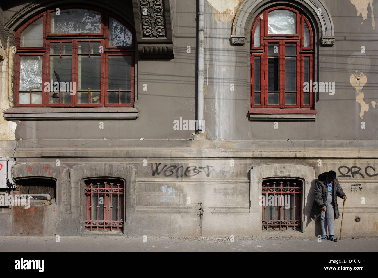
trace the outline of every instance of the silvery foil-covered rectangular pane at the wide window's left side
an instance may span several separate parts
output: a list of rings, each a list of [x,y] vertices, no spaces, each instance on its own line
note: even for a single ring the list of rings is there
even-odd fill
[[[20,91],[42,91],[42,57],[20,57]]]

